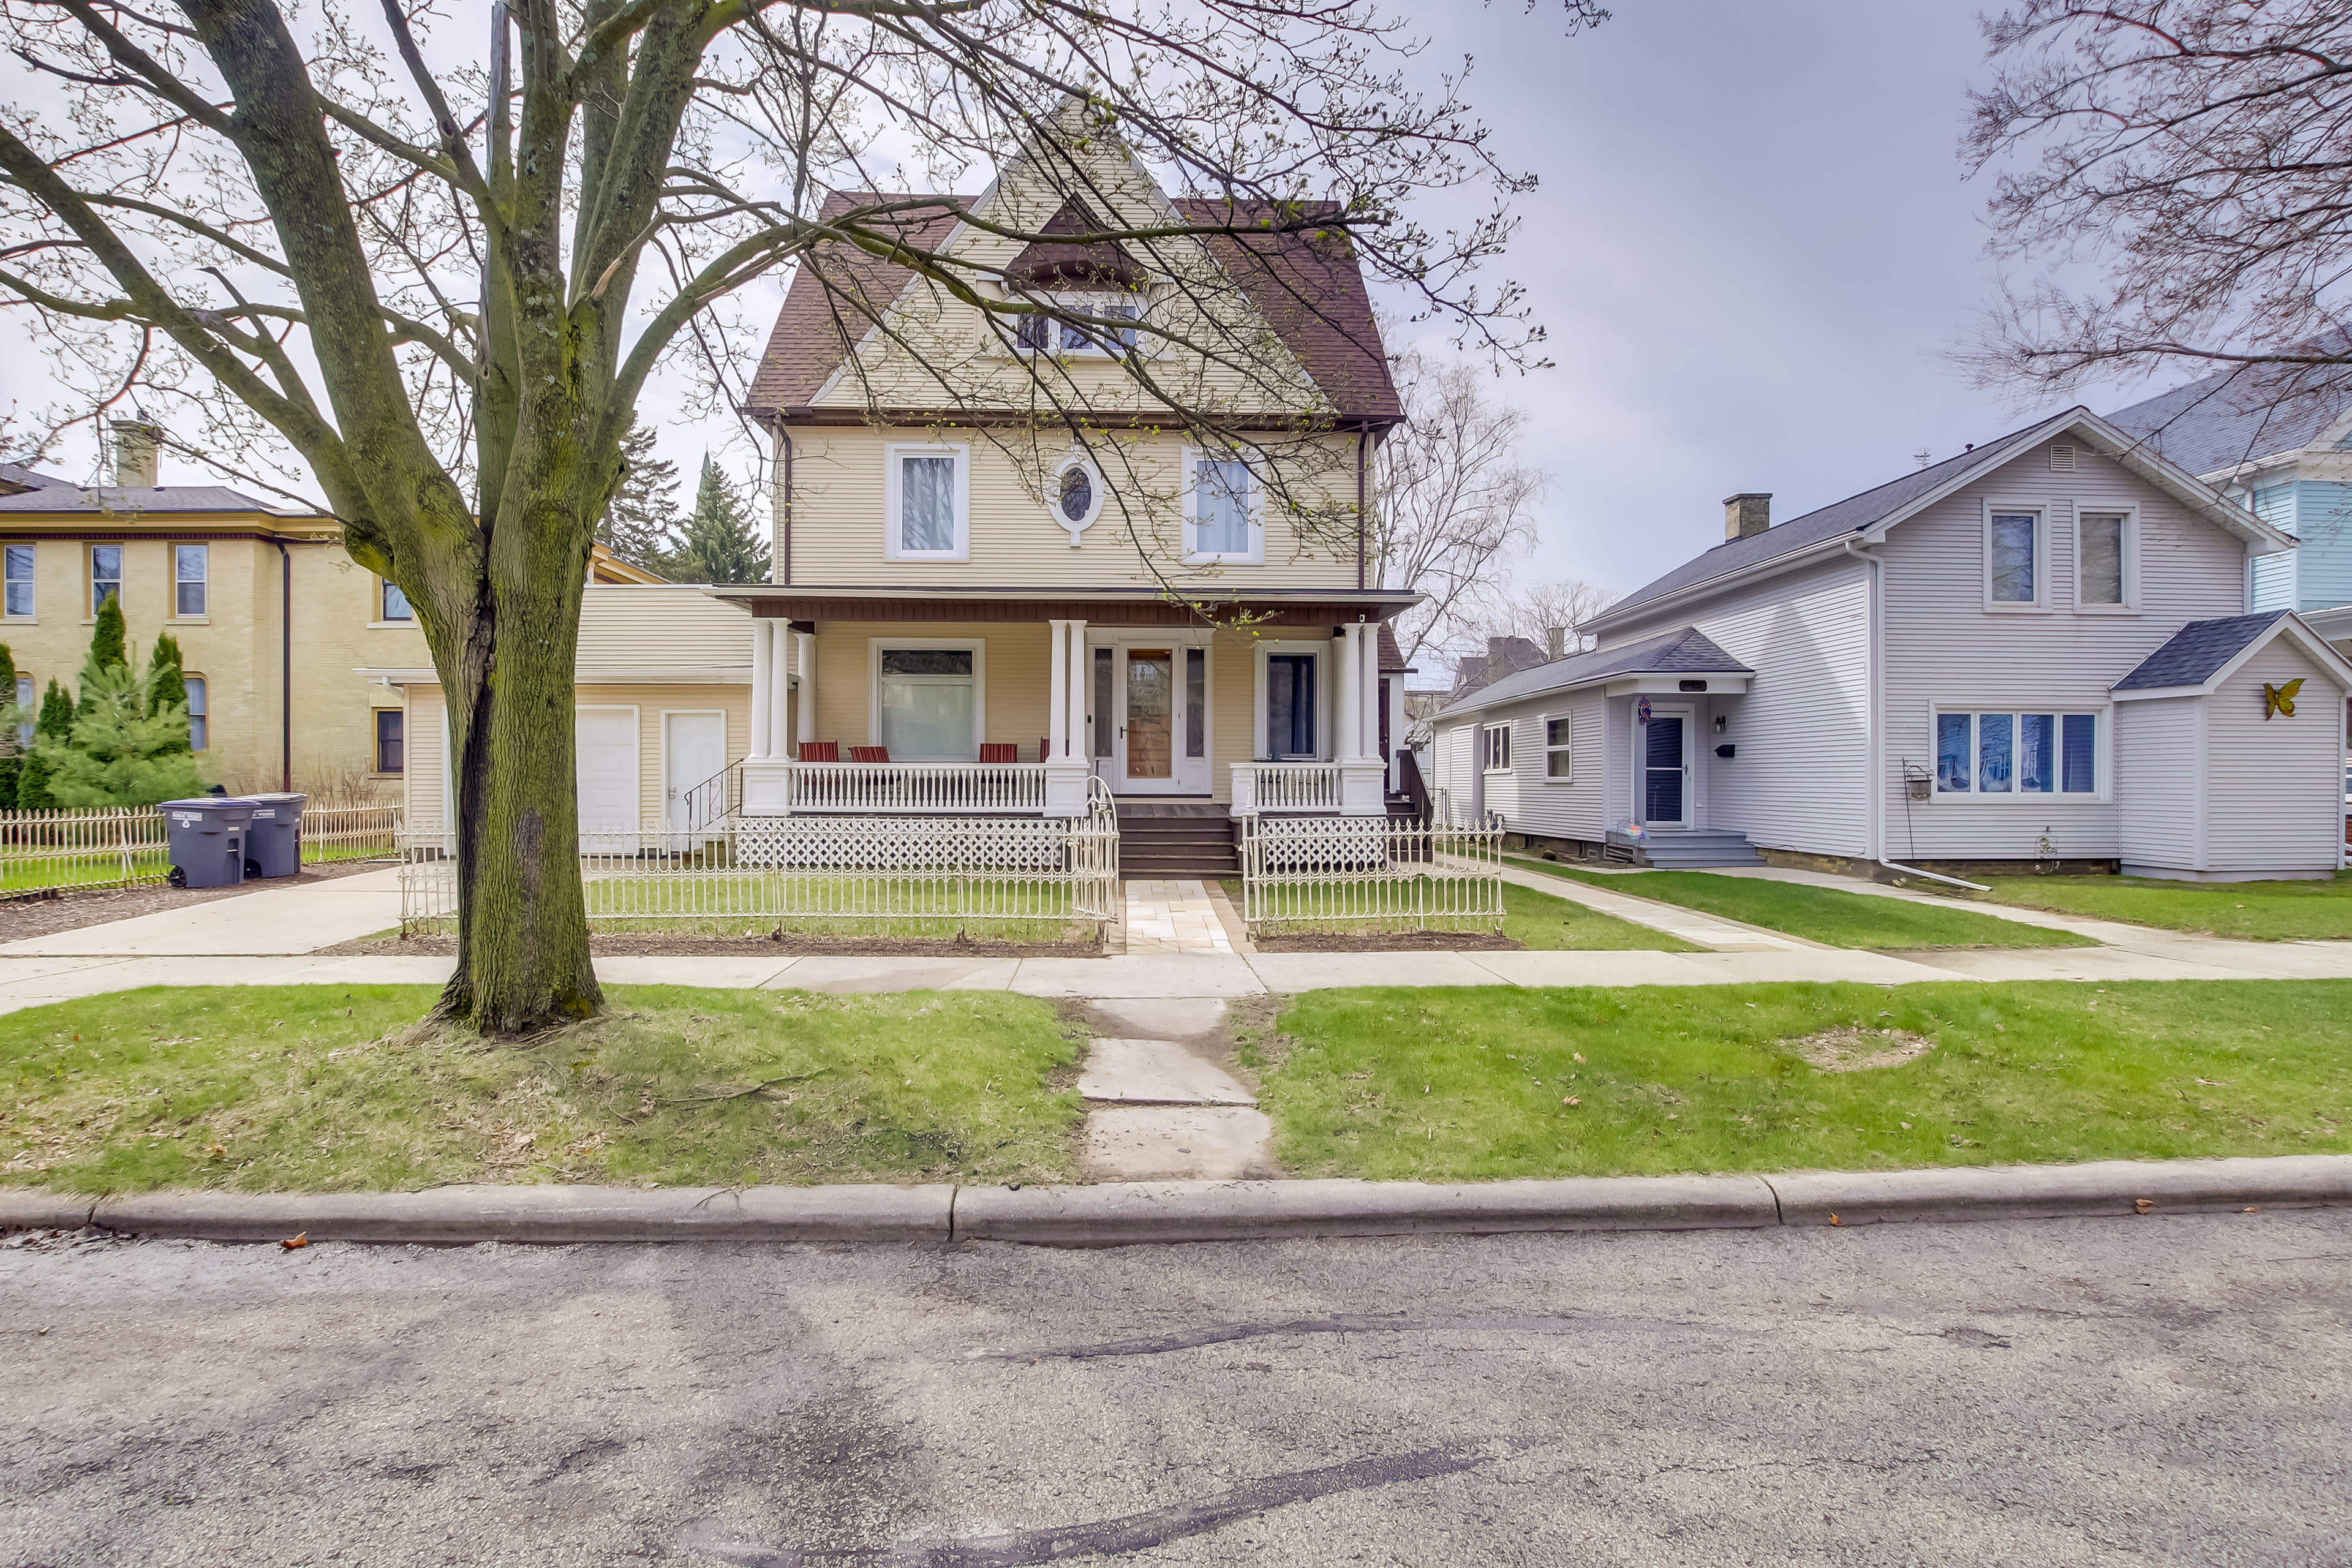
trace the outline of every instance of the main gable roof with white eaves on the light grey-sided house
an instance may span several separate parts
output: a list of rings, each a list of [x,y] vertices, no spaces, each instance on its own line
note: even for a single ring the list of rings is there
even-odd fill
[[[2296,543],[2253,512],[2225,501],[2213,487],[2204,484],[2192,473],[2164,461],[2143,442],[2136,442],[2124,430],[2117,430],[2100,416],[2091,414],[2091,409],[2077,407],[2053,418],[2044,418],[2042,423],[1983,442],[1962,451],[1957,458],[1931,463],[1919,473],[1889,480],[1886,484],[1865,489],[1858,496],[1832,501],[1830,505],[1806,512],[1804,517],[1778,522],[1762,534],[1731,538],[1712,550],[1703,550],[1665,576],[1644,583],[1604,609],[1588,623],[1588,630],[1606,630],[1609,625],[1637,621],[1644,607],[1684,590],[1703,585],[1729,588],[1740,578],[1766,571],[1776,562],[1788,562],[1790,557],[1809,555],[1839,541],[1882,538],[1886,529],[1896,527],[1917,510],[1940,501],[1971,480],[1992,473],[2002,463],[2013,461],[2030,447],[2039,447],[2042,442],[2056,437],[2082,440],[2093,451],[2131,468],[2143,480],[2157,484],[2176,501],[2204,515],[2206,522],[2213,522],[2216,527],[2253,543],[2258,555],[2291,550]]]

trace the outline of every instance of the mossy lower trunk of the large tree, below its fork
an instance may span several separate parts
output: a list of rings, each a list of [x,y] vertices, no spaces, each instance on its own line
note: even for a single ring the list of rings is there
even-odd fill
[[[536,498],[506,510],[480,599],[445,628],[449,651],[435,649],[449,675],[459,875],[459,961],[440,1013],[485,1034],[588,1018],[604,1001],[588,957],[572,731],[590,531],[569,510]]]

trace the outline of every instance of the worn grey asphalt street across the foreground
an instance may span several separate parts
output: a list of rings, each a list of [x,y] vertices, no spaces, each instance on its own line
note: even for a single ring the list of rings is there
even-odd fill
[[[0,1251],[0,1563],[2343,1563],[2352,1211]]]

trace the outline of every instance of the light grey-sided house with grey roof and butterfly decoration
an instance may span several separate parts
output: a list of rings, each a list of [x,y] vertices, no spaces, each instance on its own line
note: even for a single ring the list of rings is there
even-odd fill
[[[2072,409],[1722,545],[1435,719],[1456,820],[1649,865],[2326,877],[2352,663],[2293,538]],[[2298,684],[2300,682],[2300,684]]]

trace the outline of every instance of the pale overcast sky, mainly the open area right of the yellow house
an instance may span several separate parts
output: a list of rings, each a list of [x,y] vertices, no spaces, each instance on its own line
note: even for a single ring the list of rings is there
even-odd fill
[[[1406,9],[1432,38],[1416,68],[1475,56],[1468,99],[1501,160],[1541,176],[1496,268],[1529,287],[1557,362],[1496,386],[1531,414],[1526,456],[1552,480],[1543,545],[1517,576],[1623,592],[1717,543],[1731,491],[1773,491],[1773,515],[1797,517],[2037,409],[1947,360],[1994,289],[1987,190],[1957,158],[1966,87],[1985,80],[1973,5],[1613,7],[1578,38],[1557,0]],[[781,284],[736,301],[746,357]],[[31,414],[52,390],[9,362],[7,402]],[[748,477],[757,456],[734,423],[677,423],[670,390],[647,414],[687,496],[706,447]],[[94,451],[54,468],[94,477]]]

